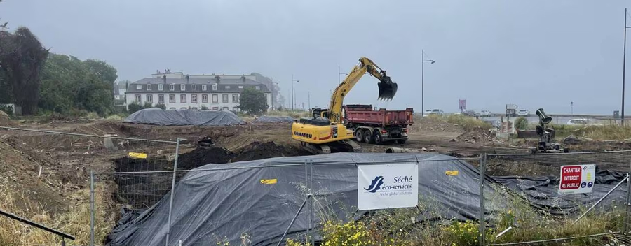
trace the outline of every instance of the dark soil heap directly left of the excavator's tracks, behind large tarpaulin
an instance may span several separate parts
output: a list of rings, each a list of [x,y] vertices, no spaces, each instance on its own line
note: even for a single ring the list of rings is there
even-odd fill
[[[277,145],[272,141],[266,143],[253,142],[241,149],[237,157],[232,159],[232,162],[252,161],[272,157],[297,157],[303,155],[309,155],[309,152],[293,146]]]

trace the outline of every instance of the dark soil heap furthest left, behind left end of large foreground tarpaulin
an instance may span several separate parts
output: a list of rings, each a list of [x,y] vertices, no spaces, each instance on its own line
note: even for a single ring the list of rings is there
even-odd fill
[[[205,164],[229,163],[234,153],[223,147],[200,147],[186,154],[180,154],[177,159],[177,169],[193,169]]]

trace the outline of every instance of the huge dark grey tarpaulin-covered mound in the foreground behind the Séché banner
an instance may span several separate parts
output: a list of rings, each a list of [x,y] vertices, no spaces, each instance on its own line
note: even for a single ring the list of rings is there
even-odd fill
[[[464,161],[441,154],[336,153],[208,164],[195,170],[252,168],[187,173],[175,187],[168,245],[178,245],[180,240],[182,245],[215,245],[222,238],[230,245],[240,245],[242,233],[250,236],[251,245],[276,245],[305,201],[304,163],[308,159],[313,161],[315,224],[320,223],[323,213],[342,219],[364,214],[355,211],[358,196],[355,164],[363,163],[421,161],[419,203],[432,204],[433,212],[421,206],[421,210],[426,211],[421,214],[432,217],[417,218],[419,220],[476,219],[479,212],[478,172]],[[262,166],[272,167],[260,168]],[[459,173],[446,175],[446,171]],[[262,184],[262,180],[274,179],[274,184]],[[493,195],[489,184],[487,181],[484,192]],[[167,195],[135,219],[117,226],[107,244],[164,245],[168,210]],[[306,231],[308,214],[308,210],[302,210],[290,234]]]

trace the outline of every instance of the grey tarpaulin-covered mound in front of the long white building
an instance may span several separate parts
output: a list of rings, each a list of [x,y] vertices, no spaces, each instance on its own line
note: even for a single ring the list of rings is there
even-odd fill
[[[230,111],[162,110],[147,108],[129,115],[125,123],[161,126],[228,126],[245,124]]]

